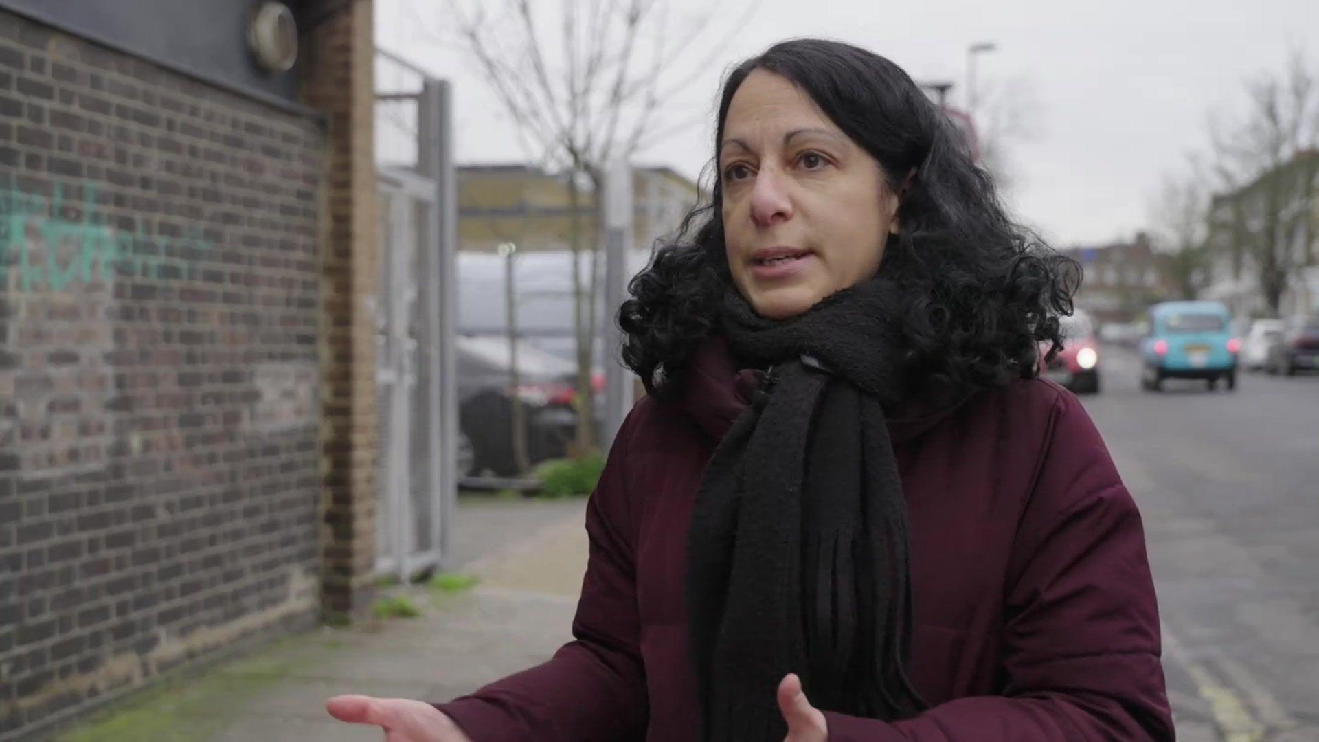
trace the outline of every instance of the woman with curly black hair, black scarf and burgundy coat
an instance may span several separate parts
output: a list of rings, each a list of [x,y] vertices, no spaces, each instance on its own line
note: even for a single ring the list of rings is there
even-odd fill
[[[1171,739],[1140,515],[1037,379],[1075,264],[892,62],[728,78],[692,238],[620,313],[645,380],[587,511],[576,640],[389,739]]]

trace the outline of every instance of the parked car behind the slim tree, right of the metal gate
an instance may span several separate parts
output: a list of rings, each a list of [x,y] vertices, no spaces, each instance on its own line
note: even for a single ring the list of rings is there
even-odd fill
[[[576,430],[576,364],[518,341],[514,388],[508,338],[459,335],[455,345],[460,475],[522,474],[513,455],[513,404],[526,413],[530,463],[566,455]],[[603,379],[594,384],[603,387]]]

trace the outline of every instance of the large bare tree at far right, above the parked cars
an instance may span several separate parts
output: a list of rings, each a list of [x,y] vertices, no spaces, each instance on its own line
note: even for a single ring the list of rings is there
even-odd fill
[[[1233,263],[1257,272],[1265,304],[1277,314],[1299,264],[1291,227],[1314,193],[1314,165],[1306,168],[1301,157],[1319,147],[1319,87],[1304,54],[1294,50],[1281,75],[1260,75],[1245,88],[1244,116],[1210,121],[1211,173],[1232,201],[1227,228],[1232,250],[1240,251]]]

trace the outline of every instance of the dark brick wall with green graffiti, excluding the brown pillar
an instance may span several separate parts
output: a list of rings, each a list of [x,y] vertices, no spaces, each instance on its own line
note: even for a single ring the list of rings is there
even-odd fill
[[[326,148],[0,11],[0,738],[315,618]]]

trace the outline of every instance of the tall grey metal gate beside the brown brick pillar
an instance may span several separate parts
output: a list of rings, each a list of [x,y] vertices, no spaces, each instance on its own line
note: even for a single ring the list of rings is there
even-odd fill
[[[443,569],[450,553],[458,482],[452,358],[456,211],[447,83],[385,51],[377,51],[377,59],[396,77],[410,78],[414,84],[409,87],[417,88],[377,94],[376,106],[377,132],[381,111],[389,110],[394,116],[386,116],[386,124],[408,116],[410,127],[400,128],[412,139],[404,148],[412,153],[410,162],[377,162],[376,300],[376,570],[408,582],[421,570]],[[384,144],[377,136],[377,153],[392,152],[389,143]]]

